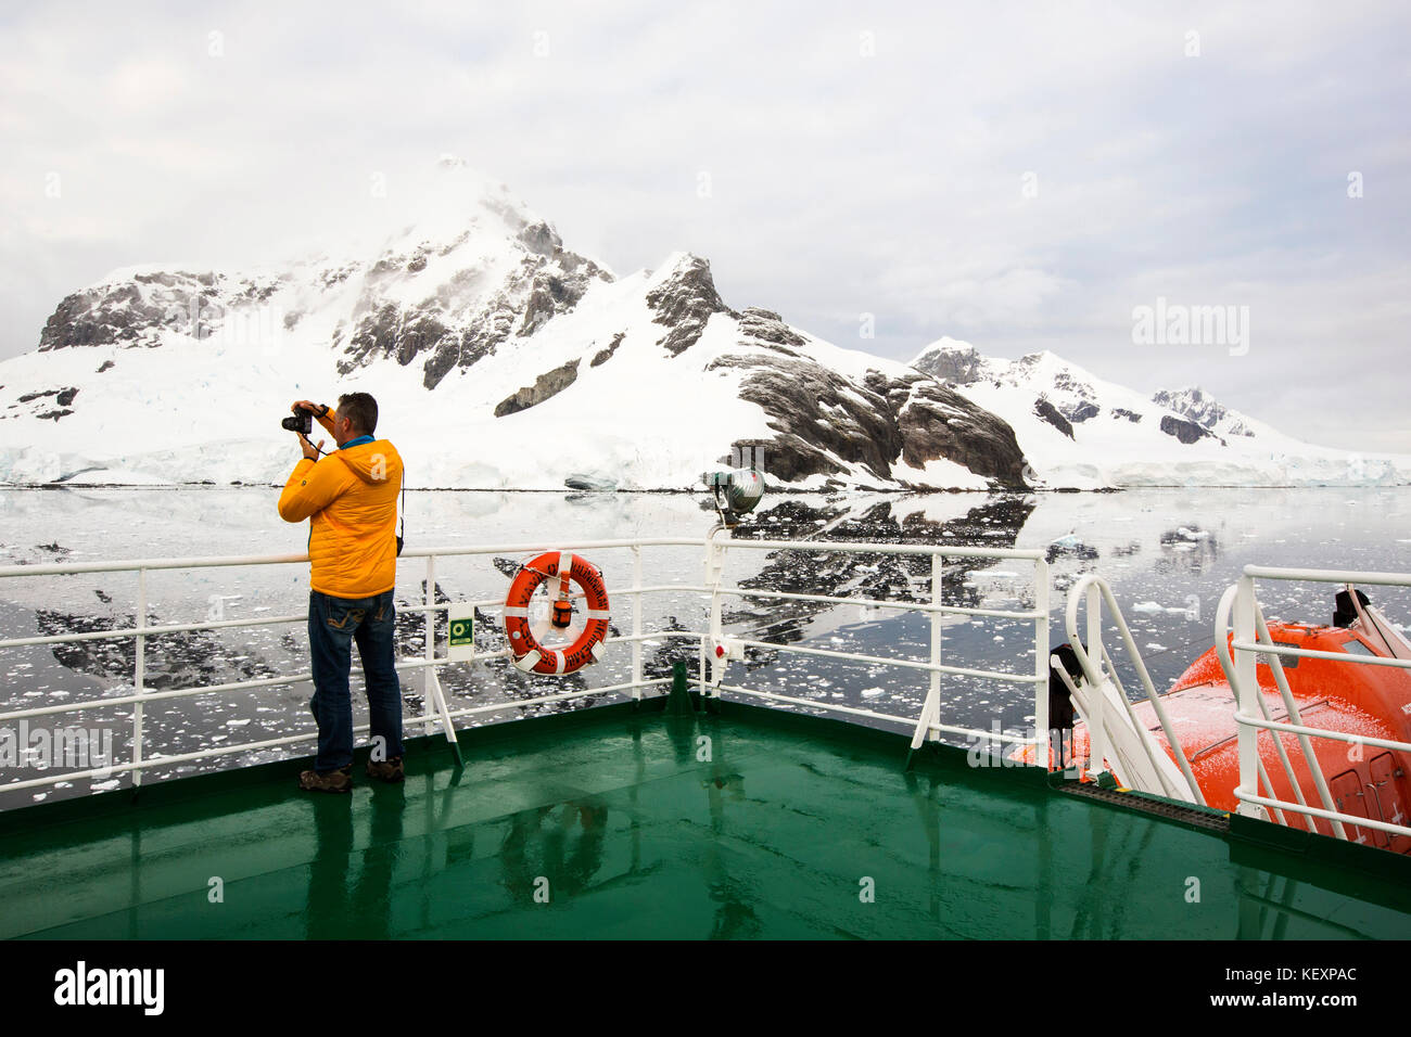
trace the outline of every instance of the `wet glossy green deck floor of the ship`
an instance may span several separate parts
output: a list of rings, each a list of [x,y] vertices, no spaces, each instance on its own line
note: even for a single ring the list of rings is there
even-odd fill
[[[358,766],[351,796],[301,793],[301,765],[278,763],[152,786],[135,806],[114,792],[10,811],[0,934],[1411,937],[1408,862],[1390,854],[1379,878],[954,751],[907,772],[904,738],[835,721],[622,705],[461,746],[456,770],[444,742],[413,742],[404,786]]]

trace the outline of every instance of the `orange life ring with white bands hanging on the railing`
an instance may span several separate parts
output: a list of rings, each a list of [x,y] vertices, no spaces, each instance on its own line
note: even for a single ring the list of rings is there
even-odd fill
[[[559,595],[553,604],[555,626],[569,625],[570,580],[583,588],[587,601],[587,622],[579,639],[567,648],[545,648],[529,629],[529,600],[539,584],[555,577],[559,580]],[[515,667],[523,673],[564,674],[597,662],[602,657],[602,639],[608,633],[608,591],[602,573],[577,554],[556,550],[540,554],[521,569],[509,584],[509,594],[505,595],[505,633],[509,635]]]

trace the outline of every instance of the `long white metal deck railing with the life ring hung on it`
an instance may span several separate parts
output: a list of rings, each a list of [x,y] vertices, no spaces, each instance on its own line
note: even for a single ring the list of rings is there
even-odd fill
[[[645,584],[643,570],[642,570],[642,550],[648,547],[704,547],[706,577],[707,577],[706,581],[698,586],[690,586],[682,583]],[[610,598],[619,597],[624,594],[631,598],[632,632],[628,635],[610,636],[607,641],[608,646],[619,642],[626,642],[631,645],[632,649],[631,680],[591,687],[579,691],[549,693],[532,698],[509,698],[505,701],[488,703],[484,705],[450,708],[450,703],[447,701],[443,693],[437,670],[440,670],[444,666],[460,665],[460,660],[453,660],[444,656],[443,657],[436,656],[435,615],[437,612],[446,612],[452,604],[457,605],[471,604],[478,608],[499,610],[504,607],[504,601],[502,598],[483,598],[471,602],[460,601],[460,602],[437,604],[435,601],[437,559],[485,556],[485,554],[526,556],[526,554],[542,553],[545,550],[571,550],[581,553],[590,550],[612,550],[612,549],[629,550],[632,553],[631,586],[608,587]],[[734,550],[741,550],[741,552],[806,550],[810,553],[868,552],[876,554],[930,557],[931,560],[930,601],[926,602],[885,601],[885,600],[871,600],[858,597],[831,597],[821,594],[801,594],[790,591],[772,591],[762,588],[741,588],[735,586],[725,586],[721,583],[721,571],[724,569],[724,562],[728,552]],[[888,545],[888,543],[830,543],[830,542],[814,542],[814,540],[752,540],[752,539],[717,540],[713,532],[711,536],[708,538],[646,538],[646,539],[639,538],[639,539],[618,539],[618,540],[583,540],[577,543],[557,543],[557,545],[499,543],[499,545],[478,545],[473,547],[408,549],[402,552],[401,557],[404,563],[405,560],[413,557],[422,557],[426,560],[425,602],[420,605],[398,607],[398,610],[402,612],[423,614],[425,656],[422,659],[401,657],[396,662],[396,669],[399,672],[412,672],[412,673],[418,670],[420,672],[422,691],[423,691],[422,722],[425,725],[425,731],[426,734],[433,734],[439,727],[453,748],[456,748],[456,727],[453,721],[457,718],[480,717],[484,714],[504,711],[509,708],[523,708],[526,705],[559,703],[587,696],[601,696],[607,693],[626,693],[631,694],[634,698],[642,698],[643,693],[649,689],[656,689],[660,691],[659,686],[669,684],[672,681],[672,677],[643,677],[642,643],[645,641],[683,638],[687,641],[697,641],[697,659],[698,659],[697,687],[707,697],[718,696],[720,691],[725,690],[746,696],[755,696],[775,703],[820,708],[825,711],[841,712],[845,715],[866,717],[879,721],[899,722],[907,725],[909,728],[914,727],[913,748],[920,746],[921,742],[927,739],[938,739],[943,732],[964,735],[978,739],[989,739],[992,736],[992,734],[986,731],[947,725],[940,722],[941,674],[955,674],[955,676],[1033,684],[1033,701],[1034,701],[1034,717],[1036,717],[1034,728],[1036,731],[1043,734],[1034,738],[1009,739],[1009,741],[1023,741],[1026,744],[1034,745],[1036,759],[1040,760],[1041,766],[1048,765],[1048,758],[1047,758],[1048,570],[1047,570],[1047,563],[1044,562],[1044,557],[1040,552],[978,549],[978,547],[940,547],[940,546],[921,546],[921,545]],[[944,559],[1031,562],[1034,564],[1034,608],[1031,611],[1007,611],[1007,610],[986,610],[986,608],[962,607],[962,605],[945,605],[941,594]],[[59,782],[73,782],[78,779],[110,777],[120,773],[131,773],[133,784],[140,786],[143,772],[154,768],[169,768],[172,765],[188,763],[192,760],[202,760],[214,756],[254,752],[261,749],[275,749],[317,738],[316,731],[305,731],[301,734],[288,735],[282,738],[270,738],[255,742],[241,742],[237,745],[210,746],[196,752],[185,752],[176,755],[152,756],[145,752],[147,736],[144,731],[144,720],[145,720],[144,710],[150,705],[178,698],[189,698],[193,696],[265,689],[265,687],[286,686],[312,680],[310,672],[301,670],[296,673],[278,674],[274,677],[260,677],[253,680],[237,680],[219,684],[199,684],[192,687],[168,689],[168,690],[150,690],[145,684],[147,680],[145,646],[147,646],[147,639],[154,635],[192,632],[192,631],[219,631],[219,629],[243,628],[243,626],[277,626],[284,624],[303,624],[308,621],[308,615],[306,614],[277,615],[277,617],[261,617],[255,619],[207,619],[206,622],[150,625],[148,608],[147,608],[147,574],[159,570],[281,566],[281,564],[299,564],[299,563],[308,563],[308,556],[277,554],[277,556],[240,556],[240,557],[140,559],[127,562],[44,563],[32,566],[25,564],[25,566],[0,567],[0,580],[38,577],[38,576],[65,576],[65,574],[79,574],[79,573],[137,573],[135,626],[121,628],[121,629],[42,635],[30,638],[10,638],[0,641],[0,650],[3,650],[13,648],[24,648],[24,646],[55,645],[65,642],[110,641],[121,638],[135,639],[133,689],[130,694],[87,698],[82,701],[65,701],[61,704],[35,705],[35,707],[8,710],[0,712],[0,724],[10,724],[14,721],[27,721],[28,718],[32,717],[45,717],[61,712],[82,714],[83,711],[87,710],[131,705],[133,721],[131,721],[130,759],[121,763],[116,760],[107,760],[104,766],[89,770],[78,770],[78,772],[69,770],[62,773],[45,775],[28,780],[8,782],[0,784],[0,792],[13,792],[44,784],[56,784]],[[642,628],[643,595],[682,594],[682,593],[708,595],[710,628],[707,631],[691,631],[691,629],[653,631],[653,632],[643,631]],[[854,652],[834,652],[817,648],[807,648],[803,645],[776,643],[759,639],[744,639],[744,638],[729,639],[724,635],[721,629],[721,601],[725,595],[741,595],[741,597],[753,597],[765,600],[776,598],[776,600],[792,600],[792,601],[807,601],[807,602],[838,604],[838,605],[865,605],[879,610],[886,608],[886,610],[900,610],[900,611],[914,611],[914,612],[928,614],[931,617],[930,657],[923,662],[910,659],[896,659],[892,656],[873,656],[873,655],[862,655]],[[1034,625],[1033,673],[1016,674],[999,670],[961,667],[943,663],[941,617],[944,615],[1000,617],[1000,618],[1031,621]],[[866,662],[875,665],[897,666],[903,669],[914,669],[926,672],[930,676],[930,687],[920,717],[900,717],[895,714],[879,712],[875,710],[835,705],[821,700],[780,696],[776,693],[744,687],[741,684],[725,684],[721,680],[725,660],[715,659],[715,656],[711,652],[711,662],[710,662],[711,672],[710,676],[707,676],[707,653],[708,649],[713,650],[717,645],[724,646],[727,643],[732,646],[735,645],[753,646],[758,649],[769,649],[775,652],[800,653],[806,656],[855,660],[855,662]],[[497,659],[497,657],[511,657],[511,655],[512,653],[508,648],[494,652],[477,650],[473,662],[483,662],[487,659]],[[361,724],[354,728],[354,734],[360,734],[367,729],[368,725]]]

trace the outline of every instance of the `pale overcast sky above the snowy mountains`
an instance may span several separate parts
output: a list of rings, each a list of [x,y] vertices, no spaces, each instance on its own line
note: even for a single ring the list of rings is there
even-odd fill
[[[0,358],[116,267],[279,260],[450,152],[840,346],[1050,348],[1411,453],[1408,58],[1407,4],[1342,0],[10,4]],[[1134,341],[1158,298],[1247,327]]]

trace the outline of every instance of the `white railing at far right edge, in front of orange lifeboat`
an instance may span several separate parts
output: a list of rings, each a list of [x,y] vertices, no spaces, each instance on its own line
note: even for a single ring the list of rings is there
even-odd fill
[[[1268,820],[1271,814],[1280,824],[1288,824],[1285,813],[1297,814],[1308,831],[1318,831],[1314,818],[1319,818],[1329,823],[1332,834],[1339,839],[1349,838],[1346,825],[1376,828],[1391,835],[1411,837],[1411,827],[1395,824],[1381,817],[1373,818],[1338,810],[1332,792],[1328,787],[1328,777],[1309,739],[1326,738],[1349,745],[1373,746],[1404,753],[1411,753],[1411,744],[1370,735],[1353,735],[1343,731],[1328,731],[1304,724],[1298,711],[1298,703],[1294,700],[1292,690],[1288,686],[1283,663],[1285,657],[1328,659],[1356,666],[1391,666],[1407,670],[1411,669],[1411,660],[1387,659],[1376,655],[1355,655],[1350,652],[1321,652],[1295,645],[1276,643],[1264,619],[1263,608],[1259,604],[1256,580],[1411,587],[1411,574],[1245,566],[1243,576],[1225,591],[1219,607],[1215,610],[1215,653],[1235,693],[1240,775],[1239,786],[1235,789],[1235,799],[1239,800],[1239,813],[1263,820]],[[1278,689],[1284,710],[1288,714],[1287,721],[1276,721],[1273,718],[1268,704],[1260,693],[1256,667],[1261,660],[1268,662],[1274,686]],[[1294,792],[1294,801],[1280,800],[1273,793],[1268,775],[1259,756],[1259,734],[1261,731],[1273,732],[1270,736],[1273,738],[1288,784]],[[1284,739],[1278,736],[1280,732],[1295,736],[1304,763],[1314,780],[1314,787],[1322,804],[1321,807],[1307,801],[1288,753],[1284,749]]]

